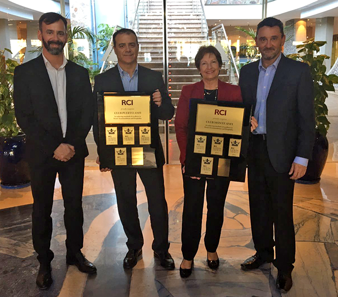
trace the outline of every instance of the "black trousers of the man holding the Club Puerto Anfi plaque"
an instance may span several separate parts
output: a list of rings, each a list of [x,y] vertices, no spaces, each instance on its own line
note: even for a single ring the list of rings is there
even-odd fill
[[[140,175],[147,194],[150,223],[154,235],[152,248],[156,252],[168,251],[168,205],[165,197],[163,166],[153,169],[111,171],[118,213],[128,238],[128,249],[141,249],[144,243],[137,210],[136,172]]]

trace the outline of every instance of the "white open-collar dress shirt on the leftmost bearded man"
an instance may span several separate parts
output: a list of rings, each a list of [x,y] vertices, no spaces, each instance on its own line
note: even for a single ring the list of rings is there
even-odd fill
[[[56,104],[58,105],[58,112],[61,122],[61,129],[63,137],[66,137],[67,131],[67,102],[66,102],[66,71],[65,66],[67,59],[64,56],[64,61],[60,68],[56,70],[49,61],[42,54],[43,60],[47,68],[49,79],[52,83]]]

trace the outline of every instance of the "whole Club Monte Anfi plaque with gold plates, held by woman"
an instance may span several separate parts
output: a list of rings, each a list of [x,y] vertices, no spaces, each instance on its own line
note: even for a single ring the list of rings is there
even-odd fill
[[[185,175],[245,181],[252,105],[190,99]]]

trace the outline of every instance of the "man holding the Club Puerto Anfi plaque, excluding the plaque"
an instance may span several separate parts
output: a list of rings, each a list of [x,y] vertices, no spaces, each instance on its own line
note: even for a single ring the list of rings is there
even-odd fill
[[[101,169],[111,171],[114,181],[117,208],[123,229],[128,238],[128,252],[123,260],[123,267],[133,268],[142,255],[143,235],[140,225],[137,196],[136,174],[138,173],[145,187],[150,222],[154,234],[152,248],[154,256],[166,269],[174,269],[175,263],[169,254],[168,206],[165,197],[163,165],[165,156],[159,135],[159,119],[170,120],[174,107],[165,87],[162,74],[145,68],[137,63],[139,44],[133,30],[121,29],[113,35],[114,51],[117,56],[117,66],[95,76],[94,97],[97,92],[147,92],[152,93],[151,102],[151,138],[155,148],[157,168],[137,169]],[[97,110],[93,122],[93,134],[98,143]],[[100,164],[99,157],[97,157]]]

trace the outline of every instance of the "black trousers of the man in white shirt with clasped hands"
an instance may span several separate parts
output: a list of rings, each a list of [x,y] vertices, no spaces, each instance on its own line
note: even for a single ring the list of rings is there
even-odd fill
[[[33,194],[32,237],[33,246],[40,263],[54,258],[50,250],[53,231],[51,218],[56,174],[64,200],[64,221],[67,232],[66,247],[68,254],[75,254],[83,247],[84,214],[82,192],[84,185],[84,158],[74,156],[68,162],[54,158],[43,164],[29,164],[31,189]]]

